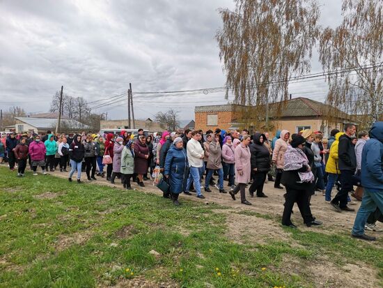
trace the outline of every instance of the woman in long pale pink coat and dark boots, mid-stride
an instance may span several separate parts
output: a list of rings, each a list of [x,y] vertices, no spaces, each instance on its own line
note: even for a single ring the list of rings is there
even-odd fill
[[[251,165],[250,165],[250,136],[244,135],[242,137],[241,144],[235,148],[235,181],[237,186],[233,190],[230,190],[229,194],[235,200],[235,195],[238,191],[241,192],[241,203],[245,205],[251,205],[246,199],[245,189],[247,183],[250,181]]]

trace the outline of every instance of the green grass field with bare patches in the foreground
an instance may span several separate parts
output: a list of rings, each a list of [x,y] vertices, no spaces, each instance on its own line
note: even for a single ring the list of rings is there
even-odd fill
[[[322,259],[368,266],[383,283],[381,241],[283,228],[289,241],[238,243],[226,234],[227,207],[175,207],[135,190],[17,178],[5,167],[0,180],[0,287],[336,287],[305,269]]]

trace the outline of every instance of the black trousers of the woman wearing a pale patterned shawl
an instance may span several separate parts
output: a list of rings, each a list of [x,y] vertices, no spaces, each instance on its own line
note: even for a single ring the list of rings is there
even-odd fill
[[[295,202],[297,202],[304,223],[315,220],[311,214],[310,203],[308,202],[309,197],[311,197],[311,190],[297,190],[286,186],[286,202],[282,215],[283,225],[291,224],[291,211]]]

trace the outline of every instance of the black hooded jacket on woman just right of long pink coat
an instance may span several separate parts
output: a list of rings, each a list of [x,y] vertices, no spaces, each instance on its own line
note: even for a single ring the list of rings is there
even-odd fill
[[[260,142],[260,136],[266,139],[264,134],[256,132],[253,135],[254,143],[250,145],[251,153],[251,171],[257,169],[257,172],[269,172],[270,171],[270,153],[267,146]]]

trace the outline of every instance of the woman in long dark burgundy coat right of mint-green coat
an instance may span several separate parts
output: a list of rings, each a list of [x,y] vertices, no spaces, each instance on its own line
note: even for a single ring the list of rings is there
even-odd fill
[[[148,174],[149,149],[146,146],[145,135],[139,136],[134,143],[134,173],[137,174],[137,183],[141,187],[143,184],[143,174]]]

